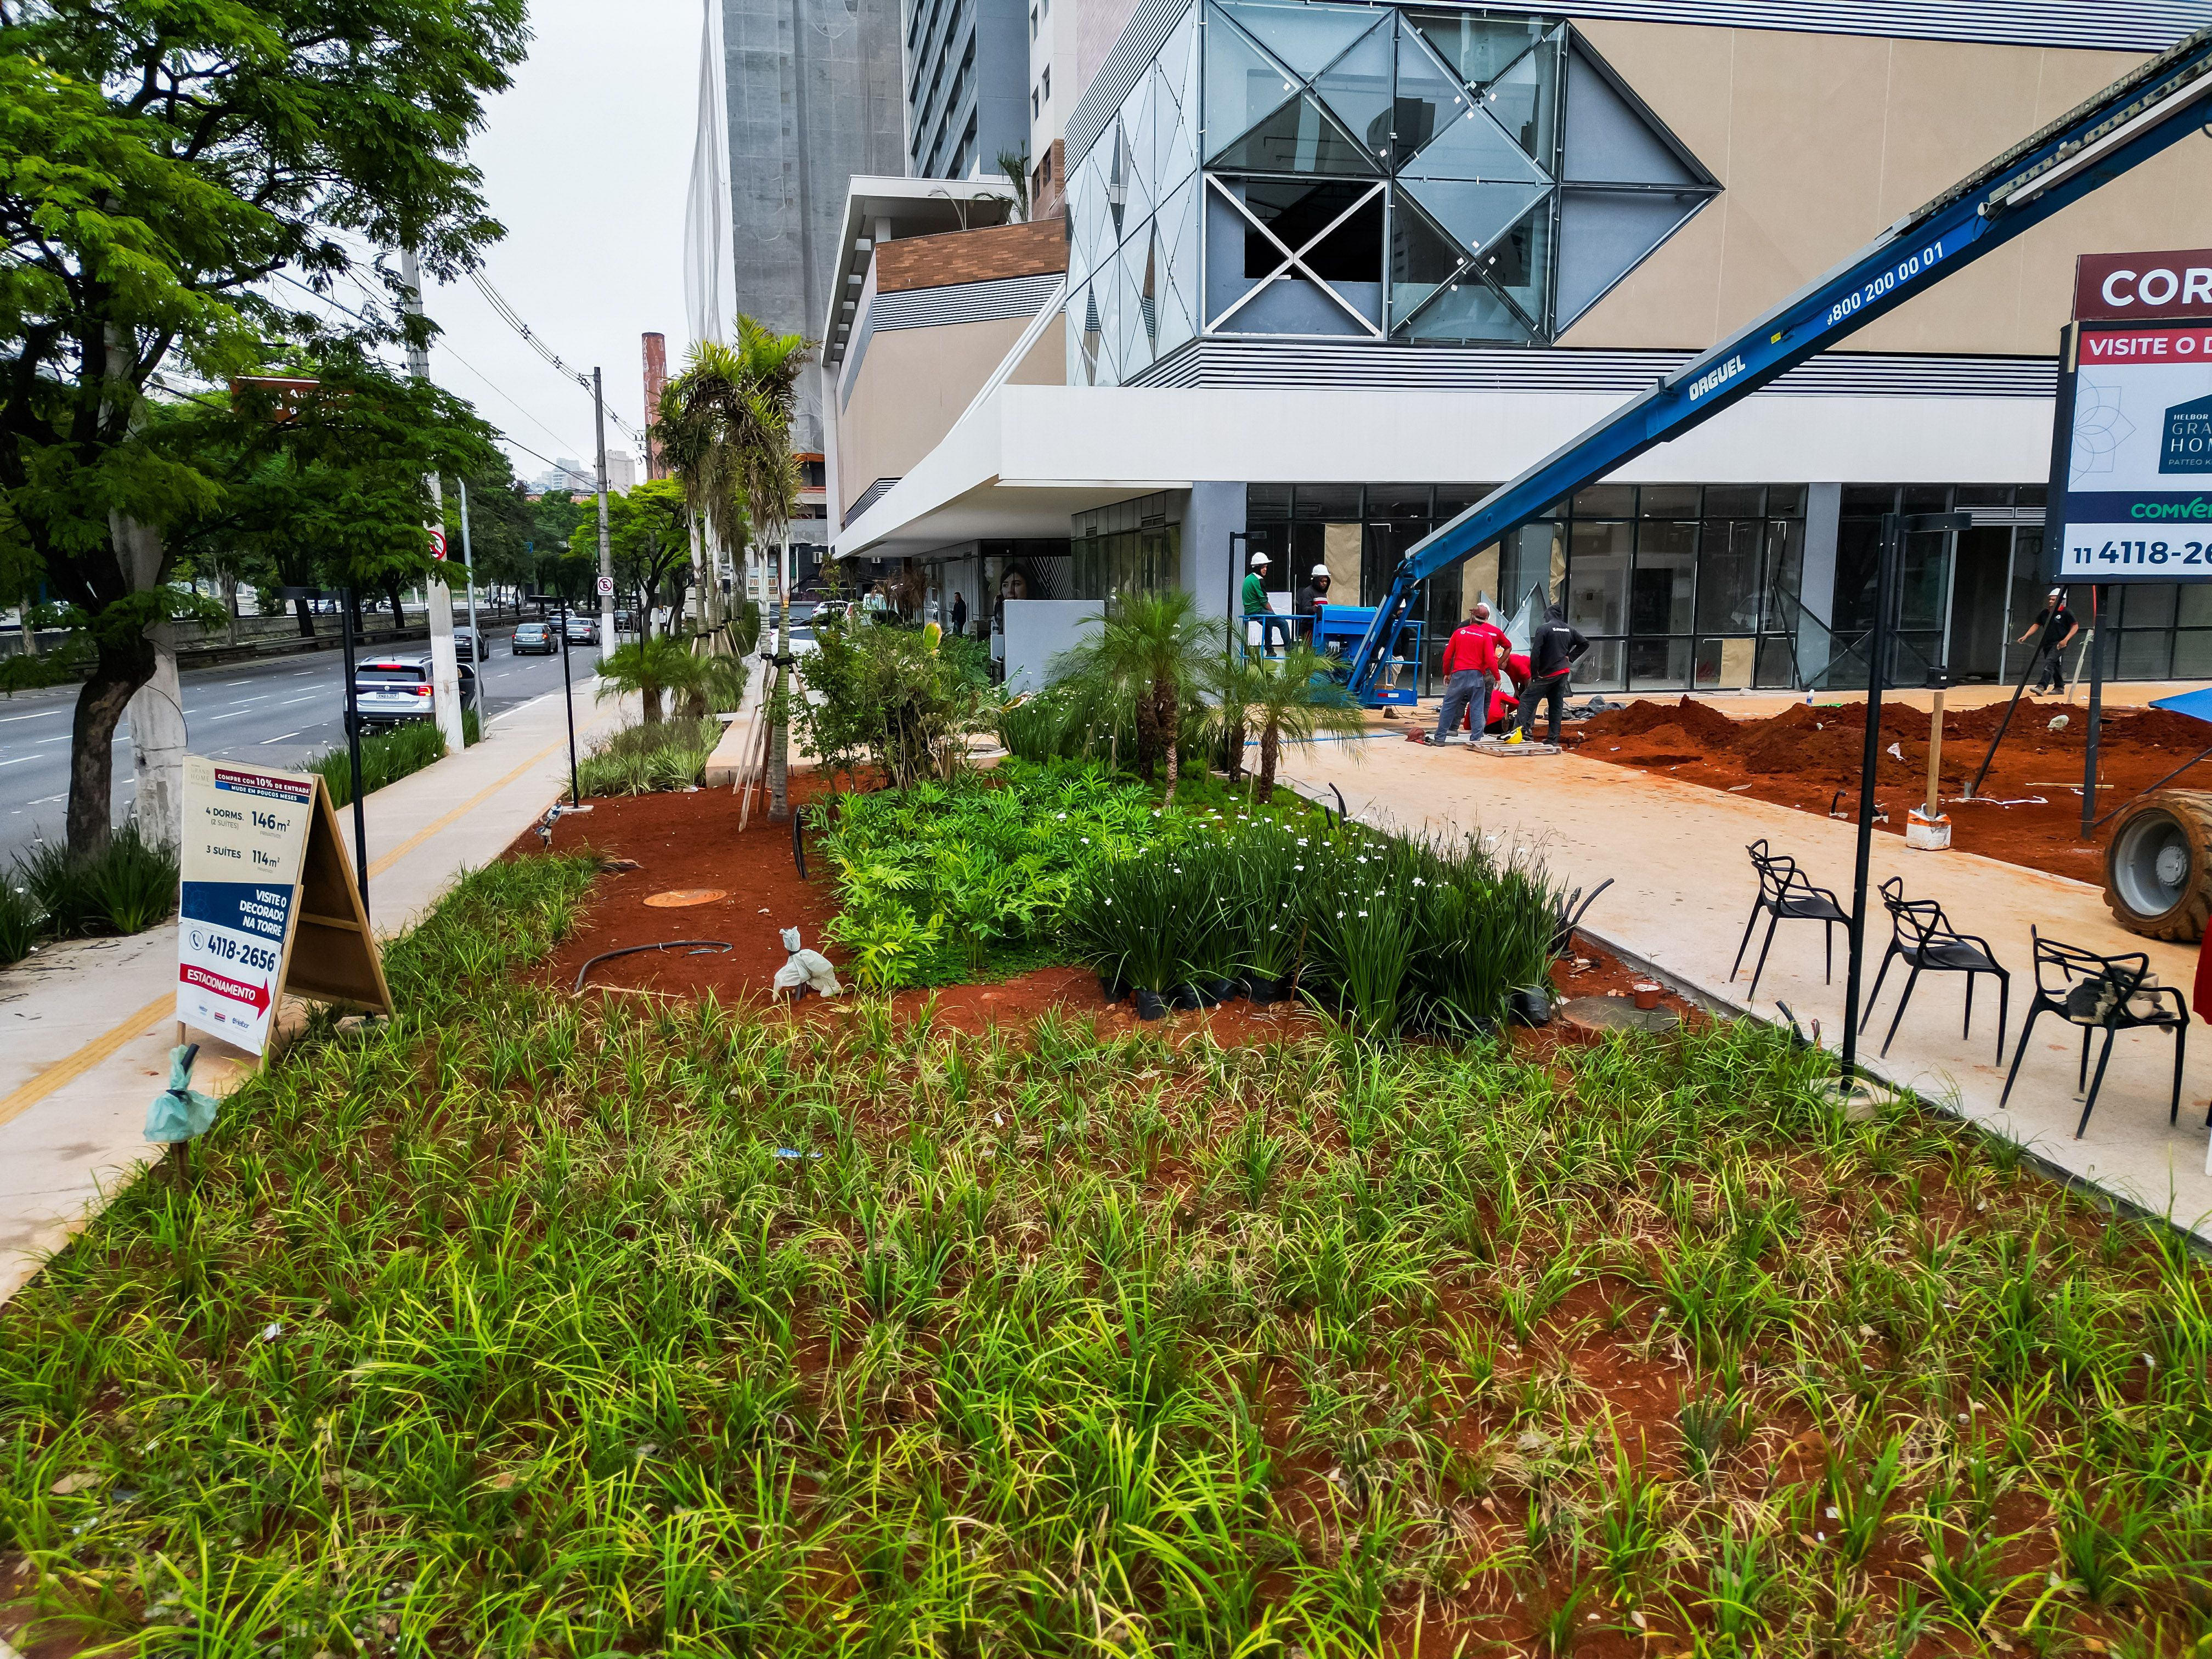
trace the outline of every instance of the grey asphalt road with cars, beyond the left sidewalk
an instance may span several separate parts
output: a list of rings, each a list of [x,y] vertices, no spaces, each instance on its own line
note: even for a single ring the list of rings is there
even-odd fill
[[[420,655],[427,644],[394,655]],[[568,668],[591,679],[599,653],[571,646]],[[336,650],[265,664],[201,668],[184,679],[184,723],[195,754],[296,768],[345,741],[345,677]],[[560,657],[513,657],[504,630],[482,666],[484,717],[560,690]],[[60,841],[69,799],[69,723],[75,688],[0,699],[0,869],[44,836]],[[131,721],[115,732],[115,818],[131,810]]]

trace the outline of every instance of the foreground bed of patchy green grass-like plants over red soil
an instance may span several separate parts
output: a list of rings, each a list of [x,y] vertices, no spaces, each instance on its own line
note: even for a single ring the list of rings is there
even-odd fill
[[[582,1004],[520,975],[588,880],[471,876],[398,1022],[319,1024],[0,1310],[18,1646],[2212,1630],[2212,1272],[1951,1119],[1845,1121],[1770,1029]]]

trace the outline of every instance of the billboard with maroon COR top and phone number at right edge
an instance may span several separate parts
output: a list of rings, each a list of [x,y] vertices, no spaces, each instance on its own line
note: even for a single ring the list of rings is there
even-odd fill
[[[2062,582],[2212,577],[2212,252],[2079,261],[2048,522]]]

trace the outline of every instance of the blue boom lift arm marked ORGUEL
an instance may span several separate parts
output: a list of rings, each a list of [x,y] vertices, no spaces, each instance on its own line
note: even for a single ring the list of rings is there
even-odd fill
[[[1349,690],[1371,699],[1376,677],[1389,661],[1389,641],[1405,624],[1422,577],[1741,403],[1876,316],[2179,144],[2208,117],[2212,29],[2199,29],[1898,219],[1832,272],[1407,549],[1352,653]]]

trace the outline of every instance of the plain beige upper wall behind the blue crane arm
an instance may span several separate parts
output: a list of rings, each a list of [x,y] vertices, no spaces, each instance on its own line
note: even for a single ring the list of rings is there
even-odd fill
[[[1575,27],[1725,186],[1562,345],[1708,347],[2141,62],[2137,53],[1763,29]],[[1847,352],[2057,349],[2081,252],[2212,246],[2212,139],[2194,133]]]

